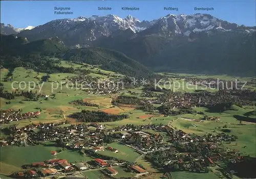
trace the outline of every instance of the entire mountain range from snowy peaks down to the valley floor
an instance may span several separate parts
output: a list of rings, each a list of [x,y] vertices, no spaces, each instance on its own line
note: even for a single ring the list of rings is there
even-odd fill
[[[80,16],[52,20],[19,32],[11,25],[2,28],[1,24],[1,33],[26,37],[30,42],[58,37],[70,47],[114,49],[159,70],[255,71],[255,27],[229,23],[209,14],[168,14],[152,21],[140,21],[131,15]],[[218,66],[221,62],[224,65]],[[239,68],[233,68],[232,63]],[[214,64],[214,69],[207,64]]]

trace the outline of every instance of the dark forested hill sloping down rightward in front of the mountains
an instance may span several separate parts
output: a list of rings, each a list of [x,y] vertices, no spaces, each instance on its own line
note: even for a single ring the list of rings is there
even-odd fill
[[[54,58],[54,59],[53,59]],[[77,63],[100,65],[101,69],[129,76],[154,76],[140,63],[115,50],[99,47],[69,48],[58,38],[28,42],[26,38],[1,35],[1,65],[6,68],[31,67],[44,72],[72,72],[59,66],[63,59]]]

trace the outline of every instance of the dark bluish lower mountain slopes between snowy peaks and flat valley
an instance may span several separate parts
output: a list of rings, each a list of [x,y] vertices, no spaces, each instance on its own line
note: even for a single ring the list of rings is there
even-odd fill
[[[255,32],[212,30],[168,38],[143,32],[130,38],[123,35],[122,40],[102,38],[95,45],[117,49],[159,71],[255,74]]]

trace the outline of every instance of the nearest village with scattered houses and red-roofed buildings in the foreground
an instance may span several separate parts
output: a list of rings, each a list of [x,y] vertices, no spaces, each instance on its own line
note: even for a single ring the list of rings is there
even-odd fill
[[[134,176],[146,176],[149,172],[141,164],[115,158],[122,152],[119,148],[108,146],[118,143],[134,149],[140,156],[152,162],[157,167],[169,168],[173,171],[190,171],[207,173],[211,166],[219,163],[236,163],[243,160],[238,150],[224,147],[223,143],[236,141],[237,136],[220,133],[218,135],[205,134],[197,136],[175,130],[167,125],[133,125],[108,129],[99,123],[69,124],[47,123],[31,124],[20,129],[9,128],[11,136],[1,140],[1,147],[9,145],[26,146],[41,145],[53,142],[60,150],[50,151],[52,159],[33,162],[20,166],[22,171],[12,174],[15,178],[44,178],[58,176],[58,178],[72,178],[71,176],[86,177],[86,172],[100,170],[106,177],[118,174],[116,167],[122,167]],[[152,130],[155,133],[148,133]],[[165,142],[163,142],[165,137]],[[26,136],[26,137],[25,137]],[[69,162],[65,158],[58,158],[63,150],[76,150],[81,156],[88,156],[91,161]],[[112,156],[104,155],[105,151],[112,152]],[[227,177],[232,177],[232,171],[223,171]]]

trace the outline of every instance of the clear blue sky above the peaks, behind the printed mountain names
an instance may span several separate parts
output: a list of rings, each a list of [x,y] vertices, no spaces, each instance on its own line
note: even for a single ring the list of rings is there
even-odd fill
[[[36,26],[61,18],[90,17],[115,14],[121,18],[132,15],[139,20],[158,19],[167,14],[211,14],[239,25],[255,25],[255,0],[244,1],[1,1],[1,23],[15,28]],[[55,15],[54,7],[70,7],[74,14]],[[111,7],[111,11],[99,11],[98,7]],[[139,11],[123,11],[121,7],[138,7]],[[164,11],[164,7],[178,11]],[[213,7],[214,11],[195,11],[195,7]]]

